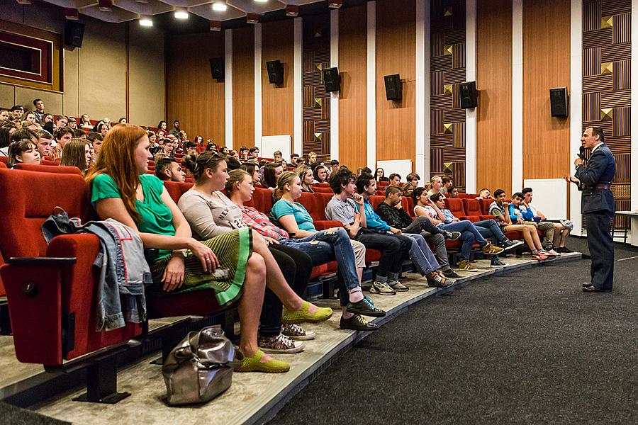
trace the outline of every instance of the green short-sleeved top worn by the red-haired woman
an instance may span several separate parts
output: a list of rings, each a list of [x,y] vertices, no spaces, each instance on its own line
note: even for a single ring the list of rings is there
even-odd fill
[[[144,202],[139,199],[135,201],[135,209],[140,213],[141,220],[136,222],[138,230],[143,233],[167,234],[174,236],[173,215],[171,210],[162,200],[164,183],[151,174],[140,176]],[[95,203],[101,199],[122,198],[113,178],[108,174],[99,174],[93,180],[91,186],[91,205],[95,208]],[[159,250],[159,255],[154,258],[147,258],[149,261],[157,261],[169,256],[171,251]]]

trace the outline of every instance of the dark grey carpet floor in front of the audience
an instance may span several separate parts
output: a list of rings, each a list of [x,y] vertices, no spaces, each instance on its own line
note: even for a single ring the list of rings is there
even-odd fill
[[[636,424],[638,251],[615,255],[627,260],[612,293],[581,291],[581,260],[428,298],[340,356],[272,424]]]

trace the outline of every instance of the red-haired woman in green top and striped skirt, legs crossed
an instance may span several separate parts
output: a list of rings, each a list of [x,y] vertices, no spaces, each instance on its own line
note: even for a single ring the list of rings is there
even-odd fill
[[[145,248],[155,285],[150,290],[181,292],[213,290],[219,305],[238,302],[242,326],[239,349],[245,356],[240,372],[286,372],[290,366],[269,357],[257,346],[266,267],[253,244],[264,244],[249,228],[237,229],[202,242],[191,228],[162,181],[147,171],[149,141],[145,130],[129,124],[115,125],[104,137],[101,152],[86,176],[91,204],[99,216],[135,229]],[[271,288],[284,305],[281,288]],[[298,300],[298,301],[297,301]],[[330,309],[293,300],[300,319],[327,319]],[[213,302],[213,300],[211,300]]]

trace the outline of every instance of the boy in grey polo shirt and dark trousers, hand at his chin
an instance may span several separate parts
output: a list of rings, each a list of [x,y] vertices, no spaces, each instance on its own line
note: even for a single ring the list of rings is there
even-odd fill
[[[354,191],[354,174],[349,169],[341,168],[333,172],[330,175],[330,188],[335,192],[335,196],[325,206],[325,217],[328,220],[342,222],[350,238],[361,242],[366,248],[381,251],[379,267],[376,269],[376,278],[370,292],[395,295],[397,290],[407,290],[408,288],[399,282],[398,276],[401,273],[403,259],[409,257],[412,240],[367,227],[364,197]],[[394,231],[401,233],[398,229]],[[443,276],[438,277],[442,285],[449,285]]]

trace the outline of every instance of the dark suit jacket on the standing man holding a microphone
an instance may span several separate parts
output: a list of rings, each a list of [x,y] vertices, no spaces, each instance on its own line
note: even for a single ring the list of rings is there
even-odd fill
[[[616,210],[614,196],[609,189],[596,189],[597,184],[610,184],[616,174],[616,160],[603,143],[591,154],[586,166],[576,169],[576,179],[583,183],[581,208],[583,214],[588,212],[609,212]]]

